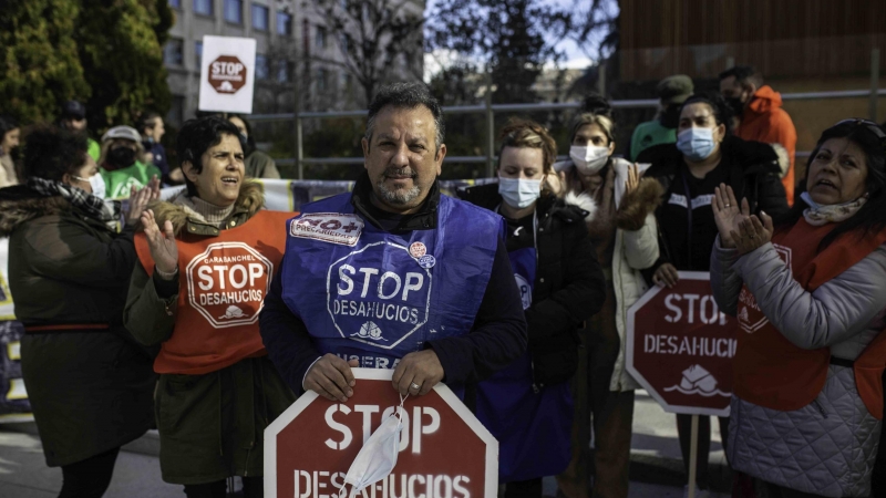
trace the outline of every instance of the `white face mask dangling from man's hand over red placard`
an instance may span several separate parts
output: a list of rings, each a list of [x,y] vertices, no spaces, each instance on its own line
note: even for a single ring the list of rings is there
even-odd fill
[[[339,498],[344,498],[348,485],[352,486],[350,497],[353,498],[363,488],[388,477],[394,469],[396,454],[400,452],[400,428],[403,424],[403,402],[405,400],[405,397],[400,397],[400,406],[396,412],[385,418],[360,448],[360,453],[357,454],[344,476]]]

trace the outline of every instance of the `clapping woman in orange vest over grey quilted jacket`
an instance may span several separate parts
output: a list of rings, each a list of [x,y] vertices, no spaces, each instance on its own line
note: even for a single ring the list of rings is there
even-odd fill
[[[718,304],[738,317],[727,445],[771,497],[870,494],[886,365],[886,133],[826,129],[784,216],[715,193]],[[742,494],[754,496],[745,479]]]

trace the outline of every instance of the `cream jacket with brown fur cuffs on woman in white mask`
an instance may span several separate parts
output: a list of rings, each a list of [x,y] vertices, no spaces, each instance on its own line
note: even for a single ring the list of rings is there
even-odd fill
[[[625,369],[627,350],[628,309],[649,289],[640,270],[655,264],[659,258],[658,224],[656,208],[661,204],[664,191],[653,178],[643,178],[637,190],[625,195],[625,180],[631,163],[612,159],[615,172],[616,238],[612,251],[612,287],[616,294],[616,329],[620,341],[618,357],[612,369],[609,391],[624,392],[640,388],[640,384]],[[643,172],[649,165],[640,165]],[[590,221],[597,210],[594,199],[587,194],[568,193],[566,203],[588,211]]]

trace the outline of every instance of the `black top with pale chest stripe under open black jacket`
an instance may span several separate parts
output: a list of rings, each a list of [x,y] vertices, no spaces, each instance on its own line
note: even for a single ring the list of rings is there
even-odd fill
[[[729,185],[730,165],[721,160],[704,178],[696,178],[680,165],[666,197],[661,231],[671,250],[671,263],[682,271],[709,271],[711,250],[717,239],[713,220],[713,189]],[[687,187],[689,193],[687,193]],[[691,211],[689,206],[692,207]]]

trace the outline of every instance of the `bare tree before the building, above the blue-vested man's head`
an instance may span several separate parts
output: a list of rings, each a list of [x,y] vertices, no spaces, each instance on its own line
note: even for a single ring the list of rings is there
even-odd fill
[[[415,0],[309,0],[340,56],[308,59],[343,68],[365,102],[389,80],[420,80],[424,17]]]

